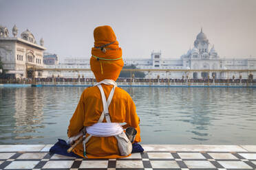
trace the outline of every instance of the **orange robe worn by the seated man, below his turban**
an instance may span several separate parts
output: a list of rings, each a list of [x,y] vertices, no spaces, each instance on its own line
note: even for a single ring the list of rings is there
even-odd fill
[[[107,97],[113,86],[102,84],[103,90]],[[91,126],[98,122],[100,115],[103,111],[103,101],[101,99],[100,90],[97,86],[86,88],[78,103],[76,111],[70,125],[68,127],[67,136],[71,137],[84,127]],[[113,123],[127,123],[125,127],[136,127],[137,134],[135,143],[141,141],[140,138],[140,119],[136,114],[136,106],[130,95],[122,88],[116,87],[113,99],[109,105],[109,115]],[[103,120],[106,122],[106,119]],[[88,134],[87,134],[88,136]],[[83,145],[77,145],[73,152],[79,156],[83,156]],[[118,145],[114,136],[110,137],[96,137],[92,136],[86,144],[86,153],[88,158],[122,158],[127,156],[120,156]]]

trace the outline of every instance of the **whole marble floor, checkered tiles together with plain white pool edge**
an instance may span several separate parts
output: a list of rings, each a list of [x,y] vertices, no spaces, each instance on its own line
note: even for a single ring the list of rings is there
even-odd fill
[[[256,145],[142,145],[122,159],[50,154],[52,145],[0,145],[0,169],[256,169]]]

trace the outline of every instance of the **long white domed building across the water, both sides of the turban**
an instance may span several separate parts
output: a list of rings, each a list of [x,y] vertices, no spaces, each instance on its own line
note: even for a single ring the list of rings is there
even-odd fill
[[[125,65],[134,64],[138,69],[205,69],[208,71],[194,71],[191,72],[189,78],[193,79],[204,79],[215,77],[215,79],[226,79],[235,76],[238,79],[240,75],[244,79],[248,78],[247,73],[233,72],[215,72],[211,70],[226,70],[226,69],[256,69],[256,58],[220,58],[219,54],[215,50],[214,45],[209,47],[209,40],[206,38],[204,32],[201,32],[196,36],[194,41],[193,49],[189,49],[186,54],[180,56],[178,59],[162,58],[161,51],[152,51],[151,58],[148,59],[124,59]],[[89,59],[85,58],[67,58],[63,62],[56,65],[47,65],[48,68],[68,68],[68,69],[89,69]],[[62,71],[60,73],[50,73],[55,76],[61,77],[77,77],[78,75],[83,75],[84,77],[93,77],[92,72],[81,71]],[[172,78],[180,79],[182,76],[186,76],[186,72],[145,72],[146,78]]]

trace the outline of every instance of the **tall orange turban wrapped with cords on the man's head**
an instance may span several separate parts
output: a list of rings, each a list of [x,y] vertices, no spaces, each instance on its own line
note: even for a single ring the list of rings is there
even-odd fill
[[[94,47],[90,65],[97,82],[105,79],[116,81],[124,66],[122,49],[118,47],[116,35],[108,25],[94,29]]]

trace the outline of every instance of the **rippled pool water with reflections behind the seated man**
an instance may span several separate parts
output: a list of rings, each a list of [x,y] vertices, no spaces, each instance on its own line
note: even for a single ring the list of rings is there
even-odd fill
[[[145,144],[255,145],[254,88],[124,88]],[[0,88],[0,144],[55,143],[83,87]]]

